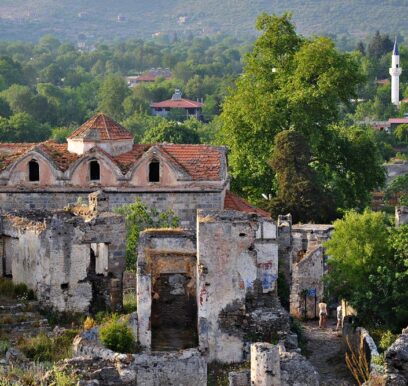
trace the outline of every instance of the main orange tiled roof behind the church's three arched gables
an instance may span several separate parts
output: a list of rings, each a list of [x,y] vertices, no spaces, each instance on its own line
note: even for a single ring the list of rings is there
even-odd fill
[[[171,162],[185,170],[193,181],[220,181],[223,178],[223,154],[220,148],[206,145],[158,144],[156,146]],[[70,153],[67,144],[57,144],[52,141],[39,144],[0,143],[0,170],[34,147],[46,153],[61,171],[67,170],[80,157]],[[151,147],[152,145],[133,145],[131,151],[117,156],[111,156],[102,149],[100,151],[109,157],[123,174],[126,174]]]

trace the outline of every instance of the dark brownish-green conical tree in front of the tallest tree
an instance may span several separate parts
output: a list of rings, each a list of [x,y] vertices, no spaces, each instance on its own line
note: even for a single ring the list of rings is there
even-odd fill
[[[269,205],[274,217],[291,213],[295,222],[324,222],[334,217],[334,202],[320,186],[310,157],[301,133],[285,130],[276,135],[270,162],[278,181],[278,194]]]

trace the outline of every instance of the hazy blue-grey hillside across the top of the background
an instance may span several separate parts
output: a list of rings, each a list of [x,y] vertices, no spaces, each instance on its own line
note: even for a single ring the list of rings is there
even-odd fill
[[[407,30],[408,0],[2,0],[2,39],[34,40],[46,33],[60,38],[147,38],[226,32],[254,34],[262,11],[290,10],[301,33],[350,33]]]

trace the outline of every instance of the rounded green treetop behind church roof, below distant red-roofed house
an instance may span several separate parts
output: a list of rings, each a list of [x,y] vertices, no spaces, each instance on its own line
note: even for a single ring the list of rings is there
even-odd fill
[[[162,121],[148,129],[143,136],[143,143],[200,143],[197,132],[176,121]]]

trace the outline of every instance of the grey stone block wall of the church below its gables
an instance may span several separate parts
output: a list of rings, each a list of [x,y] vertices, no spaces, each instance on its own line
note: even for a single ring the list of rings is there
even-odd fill
[[[98,188],[95,188],[97,190]],[[12,210],[58,210],[74,204],[79,197],[86,202],[92,190],[39,190],[29,192],[18,189],[0,189],[0,208]],[[183,228],[194,229],[197,209],[223,209],[225,191],[183,189],[183,191],[135,191],[130,189],[105,189],[109,197],[109,209],[131,204],[140,198],[149,207],[163,211],[172,209],[181,219]]]

